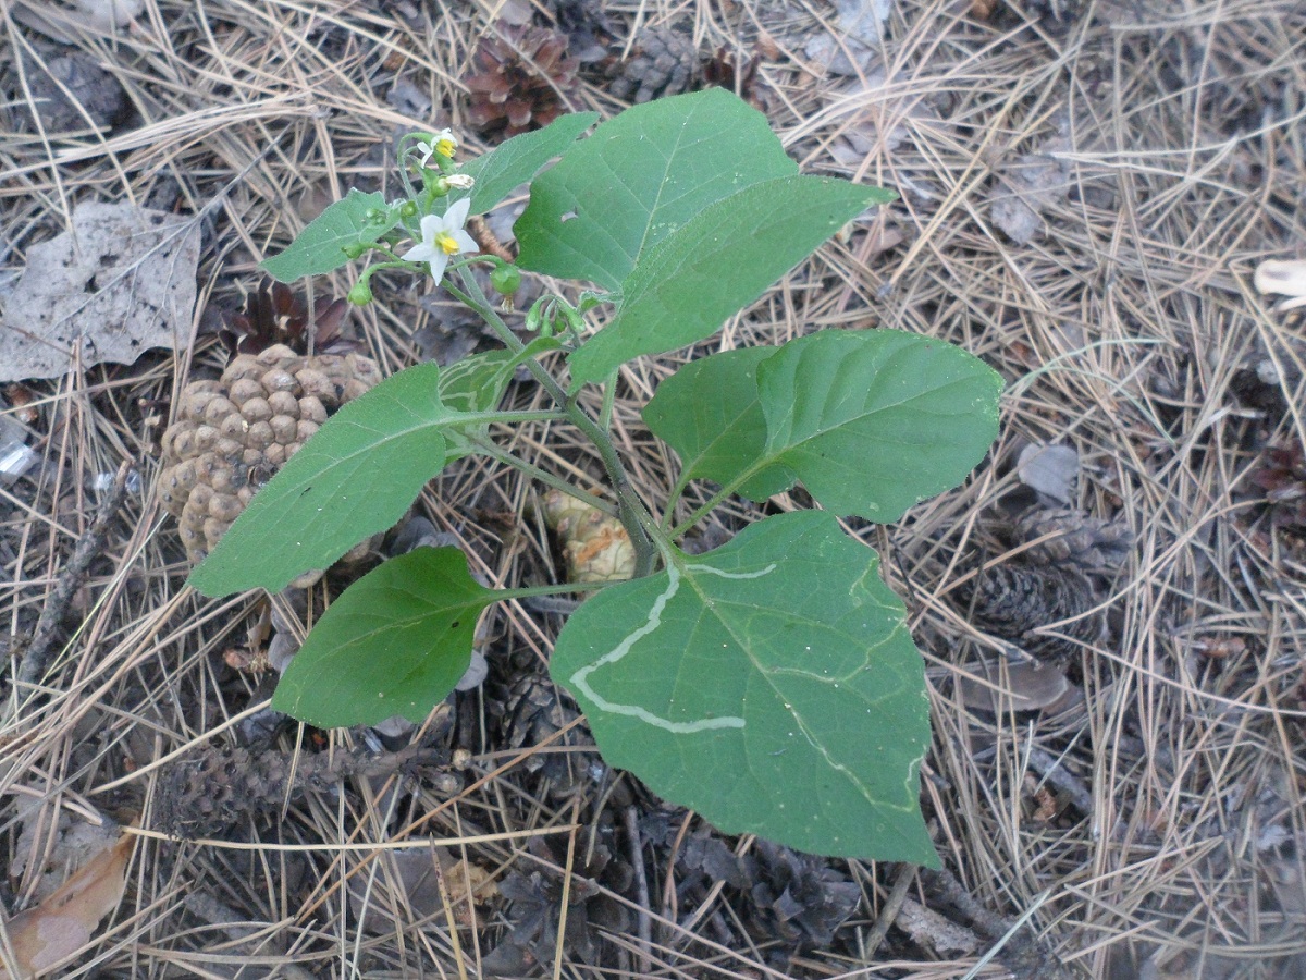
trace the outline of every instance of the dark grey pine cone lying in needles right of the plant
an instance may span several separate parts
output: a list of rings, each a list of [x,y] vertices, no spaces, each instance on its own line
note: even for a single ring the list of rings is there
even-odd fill
[[[1084,615],[1097,605],[1093,584],[1072,566],[1032,566],[1007,562],[986,568],[956,589],[963,615],[993,636],[1023,647],[1029,653],[1068,656],[1080,643],[1100,643],[1106,638],[1106,618],[1101,612]],[[1083,617],[1074,622],[1062,619]],[[1038,627],[1060,623],[1060,639],[1037,632]]]

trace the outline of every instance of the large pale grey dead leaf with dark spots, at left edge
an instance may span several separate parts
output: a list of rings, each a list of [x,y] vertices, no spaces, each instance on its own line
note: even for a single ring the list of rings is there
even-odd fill
[[[88,201],[27,252],[0,308],[0,382],[55,378],[191,342],[200,225],[127,201]]]

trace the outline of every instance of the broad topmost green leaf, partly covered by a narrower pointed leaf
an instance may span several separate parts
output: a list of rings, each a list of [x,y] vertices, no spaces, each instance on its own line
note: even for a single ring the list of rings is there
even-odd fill
[[[615,290],[708,205],[797,172],[767,118],[725,89],[635,106],[532,184],[517,264]]]

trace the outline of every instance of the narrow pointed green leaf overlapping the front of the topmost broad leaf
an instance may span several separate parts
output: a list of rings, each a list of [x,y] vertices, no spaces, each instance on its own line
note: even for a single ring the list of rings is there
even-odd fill
[[[849,220],[891,197],[879,187],[786,176],[704,208],[640,256],[613,321],[572,354],[573,387],[712,336]]]

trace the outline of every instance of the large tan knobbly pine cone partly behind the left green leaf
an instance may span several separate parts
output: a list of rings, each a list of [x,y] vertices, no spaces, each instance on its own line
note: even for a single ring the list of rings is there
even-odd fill
[[[338,337],[343,312],[342,303],[333,303],[319,321],[317,336],[337,351],[347,349]],[[251,297],[226,332],[232,350],[276,337],[306,345],[312,336],[311,321],[283,286]],[[202,561],[217,546],[259,487],[332,412],[380,379],[376,363],[360,354],[310,357],[281,342],[236,354],[215,382],[188,384],[163,433],[159,500],[178,517],[191,561]],[[308,572],[294,584],[304,588],[320,576]]]

